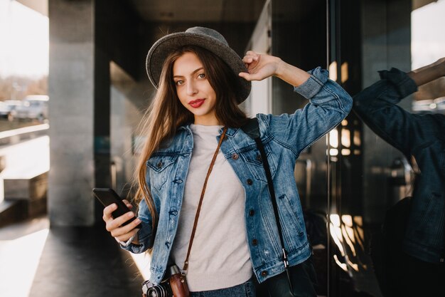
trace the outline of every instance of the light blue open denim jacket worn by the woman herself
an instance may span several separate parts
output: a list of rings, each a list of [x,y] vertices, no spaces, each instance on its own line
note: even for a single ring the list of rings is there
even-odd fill
[[[352,108],[352,98],[338,84],[328,80],[328,71],[316,68],[311,77],[294,90],[310,103],[292,115],[257,115],[259,130],[267,152],[282,221],[289,264],[294,266],[309,258],[299,194],[294,182],[296,158],[304,148],[336,127]],[[222,131],[220,131],[221,133]],[[245,189],[245,224],[247,244],[254,274],[259,282],[284,271],[282,248],[267,190],[267,178],[257,146],[240,128],[228,128],[220,150]],[[216,137],[218,142],[220,135]],[[175,238],[193,150],[193,135],[188,126],[180,127],[166,147],[156,151],[146,162],[146,182],[159,212],[156,236],[151,232],[151,216],[146,202],[139,205],[140,245],[127,250],[141,253],[153,248],[152,283],[159,283],[166,271]],[[224,182],[224,181],[221,181]]]

